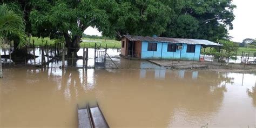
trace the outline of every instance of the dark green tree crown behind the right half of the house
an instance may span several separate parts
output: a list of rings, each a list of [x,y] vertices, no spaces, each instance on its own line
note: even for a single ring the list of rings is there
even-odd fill
[[[229,38],[227,29],[233,29],[235,8],[231,0],[173,0],[169,4],[174,14],[161,36],[210,41]]]

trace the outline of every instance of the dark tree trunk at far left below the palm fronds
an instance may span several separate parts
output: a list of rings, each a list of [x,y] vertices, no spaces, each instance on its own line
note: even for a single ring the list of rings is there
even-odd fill
[[[24,62],[25,58],[28,56],[28,49],[22,48],[18,49],[19,39],[14,39],[14,51],[11,53],[12,60],[14,62]]]

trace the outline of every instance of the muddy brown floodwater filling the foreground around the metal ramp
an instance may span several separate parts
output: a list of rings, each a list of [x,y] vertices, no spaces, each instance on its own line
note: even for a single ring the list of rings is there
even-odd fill
[[[96,100],[110,127],[256,126],[255,73],[14,68],[3,74],[0,127],[77,127],[77,105]]]

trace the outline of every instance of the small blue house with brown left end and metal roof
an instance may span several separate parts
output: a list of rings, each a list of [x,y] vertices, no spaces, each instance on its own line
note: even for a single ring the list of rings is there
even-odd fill
[[[204,39],[124,35],[120,56],[140,59],[199,60],[201,48],[222,46]]]

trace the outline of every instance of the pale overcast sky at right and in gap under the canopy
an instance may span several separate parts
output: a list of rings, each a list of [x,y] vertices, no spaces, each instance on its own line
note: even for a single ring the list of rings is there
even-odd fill
[[[256,0],[233,0],[237,5],[234,9],[235,19],[233,21],[233,30],[230,30],[232,41],[242,42],[245,38],[256,38]],[[101,32],[92,27],[87,28],[84,33],[86,35],[101,36]]]

